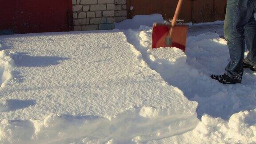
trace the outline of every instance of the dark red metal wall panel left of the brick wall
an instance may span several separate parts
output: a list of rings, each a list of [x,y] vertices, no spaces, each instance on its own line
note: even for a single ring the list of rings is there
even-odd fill
[[[61,32],[72,28],[72,0],[1,0],[0,30]]]

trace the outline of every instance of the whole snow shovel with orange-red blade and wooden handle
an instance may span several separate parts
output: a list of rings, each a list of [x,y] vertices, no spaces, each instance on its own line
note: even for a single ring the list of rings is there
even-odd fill
[[[172,24],[154,23],[152,32],[152,48],[176,47],[185,52],[188,26],[184,24],[176,25],[176,20],[179,16],[182,2],[183,0],[179,0],[178,2],[172,19]]]

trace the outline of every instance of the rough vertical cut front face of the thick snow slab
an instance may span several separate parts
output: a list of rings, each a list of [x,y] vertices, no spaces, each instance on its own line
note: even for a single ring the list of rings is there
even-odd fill
[[[156,119],[152,116],[152,109],[130,108],[112,120],[98,116],[56,114],[50,114],[40,120],[4,119],[0,123],[0,141],[21,144],[143,142],[188,132],[198,123],[195,115]],[[156,109],[155,113],[157,114]]]

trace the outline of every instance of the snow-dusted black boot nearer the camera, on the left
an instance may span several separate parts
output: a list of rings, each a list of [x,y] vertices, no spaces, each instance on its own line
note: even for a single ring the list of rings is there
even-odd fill
[[[222,84],[241,84],[242,80],[239,78],[232,78],[228,75],[212,75],[212,79],[218,80]]]

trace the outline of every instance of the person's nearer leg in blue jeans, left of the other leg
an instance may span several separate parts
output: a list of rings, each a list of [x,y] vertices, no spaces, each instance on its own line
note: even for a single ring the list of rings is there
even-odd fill
[[[234,79],[242,79],[244,60],[244,26],[254,13],[249,0],[228,0],[224,21],[224,36],[229,48],[230,62],[226,74]]]

